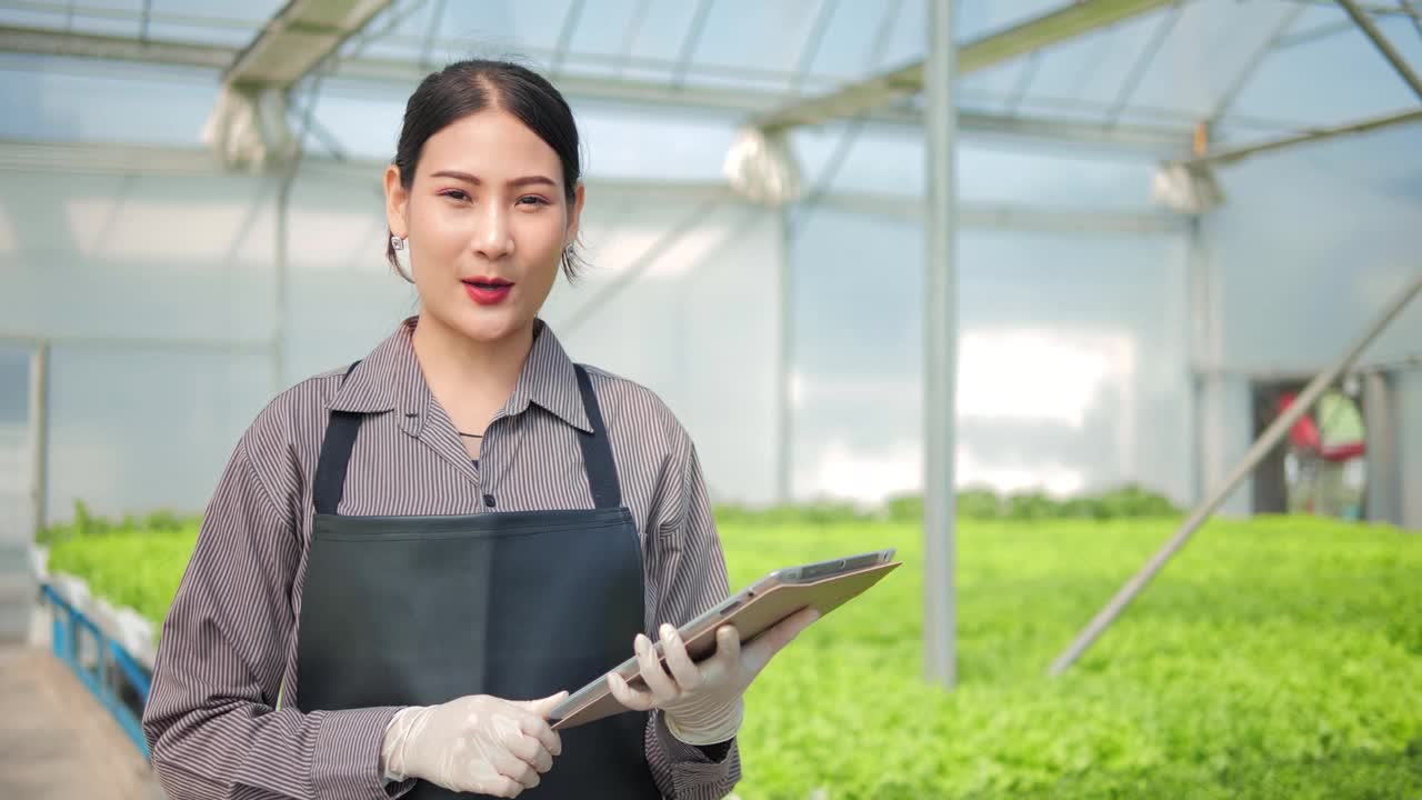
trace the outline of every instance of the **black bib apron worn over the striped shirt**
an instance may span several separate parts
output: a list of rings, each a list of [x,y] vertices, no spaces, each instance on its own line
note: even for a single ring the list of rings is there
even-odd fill
[[[303,712],[532,700],[626,660],[643,629],[641,545],[587,372],[576,372],[593,427],[577,431],[592,511],[341,517],[364,416],[331,411],[297,628]],[[623,713],[560,732],[563,754],[520,797],[660,797],[646,727],[646,713]],[[472,796],[421,780],[408,797]]]

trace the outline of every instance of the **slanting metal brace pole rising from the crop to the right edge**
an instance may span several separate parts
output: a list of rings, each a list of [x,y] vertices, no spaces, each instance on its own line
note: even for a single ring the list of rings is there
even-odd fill
[[[1378,320],[1374,322],[1368,330],[1358,337],[1354,346],[1348,349],[1342,359],[1315,376],[1298,396],[1298,400],[1290,406],[1287,411],[1270,423],[1267,428],[1264,428],[1264,433],[1260,434],[1254,446],[1244,454],[1244,460],[1240,461],[1224,483],[1220,484],[1213,494],[1210,494],[1210,498],[1190,512],[1190,517],[1183,525],[1180,525],[1170,540],[1150,557],[1150,561],[1148,561],[1146,565],[1135,574],[1135,577],[1126,581],[1126,585],[1116,592],[1116,596],[1111,598],[1111,602],[1108,602],[1106,606],[1096,614],[1091,623],[1076,635],[1076,639],[1072,641],[1072,643],[1059,656],[1057,656],[1057,660],[1054,660],[1051,666],[1051,675],[1061,675],[1065,672],[1066,668],[1075,663],[1075,660],[1081,658],[1081,653],[1086,652],[1086,648],[1089,648],[1091,643],[1095,642],[1096,638],[1101,636],[1118,616],[1121,616],[1121,612],[1125,611],[1126,605],[1129,605],[1130,601],[1133,601],[1136,595],[1145,589],[1146,584],[1155,578],[1156,572],[1165,567],[1166,561],[1169,561],[1176,551],[1185,547],[1185,542],[1190,538],[1190,535],[1204,524],[1204,521],[1214,512],[1216,508],[1220,507],[1221,502],[1224,502],[1224,498],[1234,491],[1234,487],[1239,485],[1256,465],[1258,465],[1264,456],[1267,456],[1281,438],[1284,438],[1288,428],[1291,428],[1294,423],[1297,423],[1298,419],[1318,401],[1318,397],[1321,397],[1322,393],[1338,380],[1338,376],[1352,366],[1354,360],[1357,360],[1368,344],[1371,344],[1372,340],[1388,327],[1388,323],[1392,322],[1399,312],[1402,312],[1402,309],[1413,296],[1416,296],[1419,290],[1422,290],[1422,276],[1415,278],[1402,290],[1402,293],[1398,295],[1398,298],[1386,307]]]

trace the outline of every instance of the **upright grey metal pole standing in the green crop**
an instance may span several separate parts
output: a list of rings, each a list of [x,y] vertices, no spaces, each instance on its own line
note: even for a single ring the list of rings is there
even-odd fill
[[[956,108],[953,73],[953,0],[930,0],[929,41],[924,73],[924,121],[927,122],[929,204],[924,219],[927,263],[924,265],[923,315],[923,419],[924,419],[924,615],[923,658],[930,682],[951,688],[957,682],[954,658],[954,497],[953,424],[957,372],[957,265],[954,260]]]

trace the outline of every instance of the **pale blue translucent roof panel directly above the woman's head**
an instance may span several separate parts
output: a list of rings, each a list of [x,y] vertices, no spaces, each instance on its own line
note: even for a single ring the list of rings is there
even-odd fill
[[[435,65],[512,57],[555,74],[815,93],[920,58],[923,19],[923,0],[397,0],[343,53]]]

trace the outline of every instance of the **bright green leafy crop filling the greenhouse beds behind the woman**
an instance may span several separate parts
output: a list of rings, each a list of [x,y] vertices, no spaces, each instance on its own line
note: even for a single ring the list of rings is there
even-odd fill
[[[1422,797],[1422,537],[1217,521],[1058,679],[1047,665],[1170,520],[964,521],[958,686],[921,680],[914,524],[722,520],[731,584],[897,547],[747,698],[744,800]],[[193,531],[75,537],[54,569],[161,619]]]

